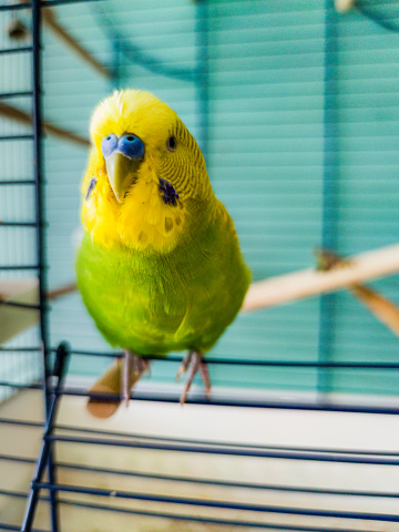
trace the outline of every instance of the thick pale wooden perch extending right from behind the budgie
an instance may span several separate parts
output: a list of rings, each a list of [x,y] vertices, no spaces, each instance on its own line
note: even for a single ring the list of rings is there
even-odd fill
[[[274,307],[396,274],[399,272],[399,244],[361,253],[349,260],[346,268],[328,272],[308,268],[253,283],[242,310]]]

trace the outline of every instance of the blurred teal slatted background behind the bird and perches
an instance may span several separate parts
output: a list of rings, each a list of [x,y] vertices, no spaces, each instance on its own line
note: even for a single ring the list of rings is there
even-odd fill
[[[399,27],[396,1],[361,3]],[[330,12],[330,29],[336,34],[331,53],[331,43],[326,41],[325,1],[213,0],[206,10],[207,168],[217,196],[234,218],[254,280],[314,265],[313,248],[326,238],[326,175],[332,191],[332,231],[339,253],[351,255],[396,243],[399,35],[356,10],[346,14]],[[121,88],[154,92],[201,139],[197,84],[127,63],[115,53],[101,13],[123,42],[142,54],[171,68],[194,69],[198,64],[195,2],[106,0],[59,7],[57,14],[59,22],[99,60],[116,64],[119,58]],[[6,16],[1,17],[4,21]],[[44,30],[43,37],[45,117],[88,135],[91,112],[112,91],[112,83],[52,33]],[[332,64],[328,64],[326,48]],[[327,92],[326,63],[332,73]],[[11,68],[1,64],[2,72]],[[1,91],[28,83],[23,64],[19,70],[14,64],[13,76],[1,78]],[[23,99],[13,103],[22,108],[25,104]],[[326,105],[330,105],[334,151],[328,172],[325,162],[331,153],[326,152]],[[79,187],[86,158],[85,149],[51,136],[45,140],[51,288],[74,277],[73,234],[80,226]],[[14,166],[4,172],[17,175],[22,172],[18,165],[27,160],[9,153],[8,161]],[[17,197],[2,194],[0,207],[6,214],[1,218],[29,216],[23,203],[29,198],[23,198],[23,192],[9,194]],[[12,211],[10,205],[14,205]],[[27,245],[22,236],[9,238],[6,249],[16,254]],[[399,304],[398,276],[371,286]],[[398,338],[350,294],[339,293],[332,303],[327,346],[332,361],[398,361]],[[54,346],[66,339],[76,350],[110,350],[78,294],[52,305],[50,326]],[[317,361],[324,351],[319,339],[320,301],[316,297],[239,316],[212,355]],[[94,377],[108,361],[73,357],[71,374]],[[156,362],[151,380],[172,382],[175,370],[175,364]],[[398,371],[335,369],[328,374],[327,391],[399,393]],[[213,365],[211,376],[214,385],[259,390],[315,391],[319,382],[317,369],[311,368]]]

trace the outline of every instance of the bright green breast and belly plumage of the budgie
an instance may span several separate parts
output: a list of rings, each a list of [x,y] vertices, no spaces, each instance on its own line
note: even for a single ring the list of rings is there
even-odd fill
[[[103,249],[85,235],[76,258],[84,304],[105,339],[140,355],[208,350],[249,285],[233,222],[217,215],[167,254]]]

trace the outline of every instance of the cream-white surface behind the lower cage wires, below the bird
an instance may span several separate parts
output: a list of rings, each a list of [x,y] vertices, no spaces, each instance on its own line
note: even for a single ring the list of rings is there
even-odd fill
[[[0,416],[12,419],[40,419],[39,392],[23,392],[3,405]],[[59,423],[79,428],[123,431],[136,434],[188,438],[209,441],[229,441],[243,444],[277,447],[335,448],[348,450],[398,451],[399,419],[393,416],[301,412],[285,410],[200,407],[132,401],[109,420],[96,420],[86,413],[81,398],[62,400]],[[0,452],[35,457],[40,446],[37,429],[0,426]],[[75,432],[72,436],[76,436]],[[83,434],[84,436],[84,434]],[[90,436],[90,434],[86,434]],[[362,466],[300,460],[282,460],[245,457],[221,457],[200,453],[167,452],[58,443],[60,461],[85,466],[143,471],[160,474],[186,475],[239,482],[258,482],[279,485],[331,488],[344,490],[399,491],[399,467]],[[4,466],[7,466],[4,468]],[[0,489],[28,490],[33,472],[31,466],[16,466],[0,461],[2,474]],[[158,493],[175,497],[209,498],[269,505],[331,509],[376,513],[398,513],[398,499],[349,498],[331,495],[293,494],[269,490],[227,489],[183,482],[143,480],[132,475],[98,474],[71,469],[60,469],[63,483],[92,485],[110,490]],[[299,518],[277,513],[244,514],[187,505],[171,507],[161,503],[135,502],[114,498],[90,498],[62,494],[78,501],[117,504],[149,511],[177,511],[185,514],[214,515],[223,519],[252,519],[265,523],[290,523],[345,528],[345,530],[398,532],[397,523],[368,521],[337,521],[334,519]],[[23,503],[0,498],[0,521],[20,524]],[[42,505],[35,525],[47,526],[48,509]],[[62,505],[62,530],[72,532],[134,532],[221,531],[221,526],[160,520],[110,511],[84,510]],[[244,529],[233,528],[239,531]]]

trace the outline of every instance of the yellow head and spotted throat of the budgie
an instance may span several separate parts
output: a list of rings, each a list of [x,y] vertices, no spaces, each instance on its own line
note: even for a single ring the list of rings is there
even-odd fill
[[[168,250],[213,195],[195,140],[164,102],[115,91],[94,111],[82,219],[105,247]]]

